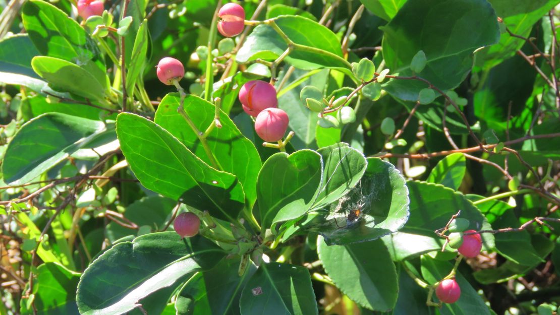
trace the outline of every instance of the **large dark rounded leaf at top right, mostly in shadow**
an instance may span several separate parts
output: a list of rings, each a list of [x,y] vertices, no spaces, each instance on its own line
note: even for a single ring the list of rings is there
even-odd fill
[[[426,67],[418,76],[441,90],[455,88],[465,79],[474,50],[500,39],[496,13],[486,0],[408,1],[383,30],[383,56],[391,72],[412,75],[412,59],[423,50]],[[385,88],[403,100],[416,101],[418,92],[427,87],[417,83],[390,80]]]

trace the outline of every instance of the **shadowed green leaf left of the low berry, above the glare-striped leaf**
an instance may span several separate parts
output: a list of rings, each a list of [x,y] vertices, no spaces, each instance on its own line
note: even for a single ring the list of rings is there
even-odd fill
[[[123,215],[139,227],[147,225],[153,229],[163,229],[175,205],[173,199],[149,196],[128,205]],[[137,229],[125,228],[115,222],[109,222],[105,228],[105,235],[111,243],[128,235],[137,235],[137,233]]]

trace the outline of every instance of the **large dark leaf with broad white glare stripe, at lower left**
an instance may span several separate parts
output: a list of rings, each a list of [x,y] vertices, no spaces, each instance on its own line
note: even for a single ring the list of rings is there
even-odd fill
[[[83,272],[76,302],[82,315],[120,315],[138,300],[196,271],[209,270],[225,252],[202,236],[175,232],[139,236],[99,256]]]

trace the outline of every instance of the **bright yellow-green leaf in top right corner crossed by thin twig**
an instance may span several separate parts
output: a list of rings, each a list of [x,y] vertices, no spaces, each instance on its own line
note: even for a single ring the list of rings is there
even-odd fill
[[[503,24],[516,35],[529,37],[533,25],[558,4],[557,0],[488,0]],[[477,55],[477,64],[489,69],[512,57],[525,41],[502,32],[500,42]]]

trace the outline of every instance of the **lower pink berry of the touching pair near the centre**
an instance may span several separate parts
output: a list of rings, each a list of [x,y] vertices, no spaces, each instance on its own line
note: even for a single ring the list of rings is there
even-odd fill
[[[288,114],[277,108],[265,109],[255,119],[256,134],[266,142],[277,142],[288,129]]]

